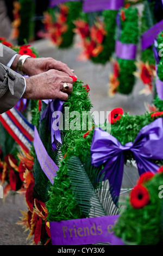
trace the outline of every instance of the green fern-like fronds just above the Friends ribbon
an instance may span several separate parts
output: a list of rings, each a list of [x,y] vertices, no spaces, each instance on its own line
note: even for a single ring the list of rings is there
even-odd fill
[[[86,217],[98,217],[117,214],[119,208],[112,200],[108,180],[103,181],[99,168],[90,164],[87,168],[78,157],[72,156],[66,163],[71,180],[71,189],[80,210]]]

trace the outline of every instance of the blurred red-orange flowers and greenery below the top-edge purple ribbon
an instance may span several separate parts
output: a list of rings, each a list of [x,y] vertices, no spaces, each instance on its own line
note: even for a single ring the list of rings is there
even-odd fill
[[[115,10],[104,10],[101,17],[96,17],[93,25],[89,24],[87,14],[74,22],[74,32],[81,40],[78,45],[82,47],[79,60],[90,59],[93,63],[101,64],[110,60],[115,50],[116,14]]]

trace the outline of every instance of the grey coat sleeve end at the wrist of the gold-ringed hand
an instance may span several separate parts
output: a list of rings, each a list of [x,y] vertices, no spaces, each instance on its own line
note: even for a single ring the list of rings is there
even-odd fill
[[[24,88],[23,76],[0,63],[0,114],[16,105]]]

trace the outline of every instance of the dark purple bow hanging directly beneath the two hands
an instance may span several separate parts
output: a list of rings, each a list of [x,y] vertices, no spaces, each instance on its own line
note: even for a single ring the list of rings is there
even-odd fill
[[[47,107],[45,108],[45,110],[43,111],[43,113],[41,115],[41,120],[46,117],[48,130],[49,130],[49,132],[51,132],[52,147],[53,147],[53,149],[56,150],[57,147],[55,144],[55,140],[57,140],[61,144],[62,144],[62,141],[61,141],[61,135],[60,135],[59,128],[53,129],[53,127],[54,127],[53,122],[57,118],[57,117],[53,116],[53,113],[57,111],[58,118],[60,118],[60,114],[62,112],[62,107],[63,107],[64,101],[55,99],[55,100],[48,100],[45,102],[48,102],[48,103],[47,103]]]

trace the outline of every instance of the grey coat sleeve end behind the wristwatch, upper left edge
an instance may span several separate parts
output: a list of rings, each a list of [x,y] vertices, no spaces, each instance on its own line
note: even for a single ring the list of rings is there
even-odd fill
[[[0,63],[7,65],[17,52],[0,43]]]

